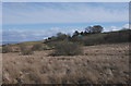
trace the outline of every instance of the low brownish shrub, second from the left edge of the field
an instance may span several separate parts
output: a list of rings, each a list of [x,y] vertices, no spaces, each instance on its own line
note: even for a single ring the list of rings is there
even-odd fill
[[[33,51],[31,48],[27,48],[26,45],[20,45],[20,49],[21,49],[21,53],[23,56],[28,56],[28,54],[33,54]]]

